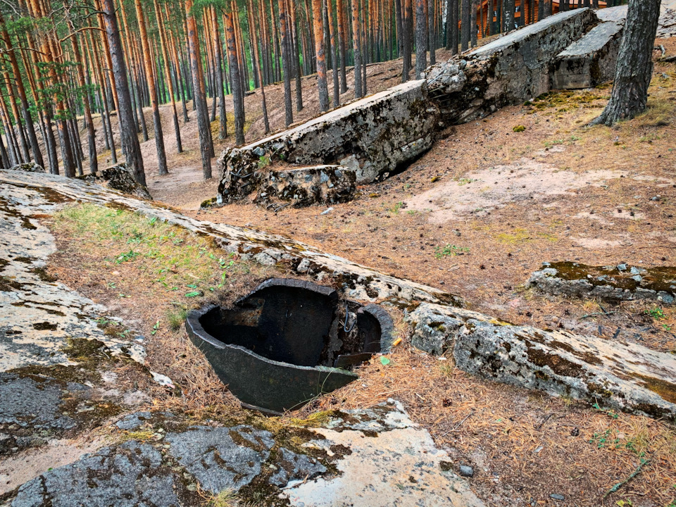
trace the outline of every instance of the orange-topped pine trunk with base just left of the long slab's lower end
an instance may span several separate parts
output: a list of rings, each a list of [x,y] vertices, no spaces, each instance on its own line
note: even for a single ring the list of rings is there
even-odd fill
[[[211,139],[211,125],[206,107],[204,94],[204,75],[201,70],[199,37],[197,24],[192,13],[192,0],[185,1],[185,15],[187,24],[188,54],[192,69],[192,91],[195,110],[197,112],[197,131],[199,132],[199,151],[202,158],[202,175],[205,180],[211,179],[211,153],[213,141]]]

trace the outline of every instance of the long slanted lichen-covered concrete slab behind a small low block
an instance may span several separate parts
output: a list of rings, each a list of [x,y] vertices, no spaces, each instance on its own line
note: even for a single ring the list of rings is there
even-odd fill
[[[425,80],[411,81],[242,148],[226,149],[218,161],[223,175],[219,203],[242,198],[243,192],[231,192],[232,175],[246,176],[247,186],[255,189],[270,163],[340,164],[356,171],[358,183],[373,182],[432,146],[438,115],[427,101]]]

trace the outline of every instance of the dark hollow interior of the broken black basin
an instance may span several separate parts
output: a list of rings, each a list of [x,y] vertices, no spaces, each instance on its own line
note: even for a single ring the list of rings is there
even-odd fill
[[[263,287],[232,309],[214,308],[200,323],[220,342],[293,365],[344,368],[379,352],[382,330],[377,318],[361,311],[358,303],[339,301],[332,289],[316,287]],[[345,357],[361,353],[365,356],[354,361]]]

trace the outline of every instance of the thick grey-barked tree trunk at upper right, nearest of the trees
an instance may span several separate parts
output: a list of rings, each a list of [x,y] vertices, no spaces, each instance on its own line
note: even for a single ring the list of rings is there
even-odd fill
[[[646,110],[660,0],[630,0],[611,100],[592,124],[614,125]]]

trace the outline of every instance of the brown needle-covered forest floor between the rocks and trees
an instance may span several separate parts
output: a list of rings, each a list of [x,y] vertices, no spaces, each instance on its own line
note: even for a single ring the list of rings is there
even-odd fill
[[[676,39],[656,44],[663,44],[668,56],[676,54]],[[447,57],[439,51],[437,59]],[[369,93],[398,83],[399,65],[371,65]],[[186,215],[293,237],[452,292],[470,308],[512,323],[561,327],[676,353],[673,308],[646,302],[601,308],[597,301],[525,289],[543,261],[676,265],[676,65],[656,63],[644,115],[613,128],[587,127],[610,92],[609,86],[554,92],[451,127],[402,173],[360,187],[354,201],[333,206],[326,215],[317,206],[272,213],[253,204],[233,204],[200,211],[199,203],[215,195],[215,164],[214,179],[204,182],[192,115],[182,127],[186,151],[174,153],[167,106],[163,120],[170,174],[156,175],[150,139],[143,146],[146,175],[156,200]],[[266,87],[266,94],[271,126],[280,129],[281,84]],[[303,78],[303,101],[306,107],[300,114],[294,111],[294,120],[317,113],[314,77]],[[263,134],[258,104],[258,92],[246,97],[247,118],[253,120],[248,141]],[[230,103],[227,109],[232,111]],[[149,111],[146,115],[150,120]],[[525,130],[515,132],[519,125]],[[217,154],[231,142],[232,137],[216,142]],[[64,248],[75,237],[62,233]],[[131,265],[125,270],[94,267],[93,260],[109,255],[101,249],[87,252],[87,275],[74,267],[83,255],[79,249],[65,249],[68,255],[56,258],[60,280],[84,289],[97,302],[141,315],[139,327],[150,333],[156,319],[165,318],[171,300],[156,306],[141,290],[111,289],[112,269],[118,280],[113,287],[133,287],[141,279]],[[175,334],[182,336],[182,331]],[[192,363],[191,357],[163,361],[179,368]],[[672,425],[484,382],[454,369],[452,358],[444,359],[420,353],[405,340],[392,354],[392,365],[365,365],[359,382],[311,403],[301,414],[399,399],[439,446],[475,468],[470,484],[487,505],[676,505]],[[604,496],[644,460],[638,475]],[[561,494],[565,501],[551,494]]]

